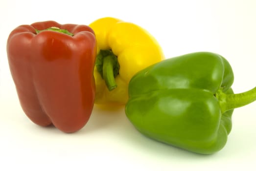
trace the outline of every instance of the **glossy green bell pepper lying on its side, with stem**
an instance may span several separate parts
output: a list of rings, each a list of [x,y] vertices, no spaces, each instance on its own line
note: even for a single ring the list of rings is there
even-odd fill
[[[218,54],[170,58],[131,79],[125,113],[145,136],[211,154],[227,142],[233,109],[256,100],[256,87],[234,94],[232,84],[232,67]]]

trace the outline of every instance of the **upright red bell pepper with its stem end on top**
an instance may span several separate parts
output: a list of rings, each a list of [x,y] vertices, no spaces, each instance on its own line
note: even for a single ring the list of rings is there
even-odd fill
[[[87,25],[43,21],[10,33],[9,67],[20,104],[32,122],[63,132],[84,127],[94,105],[96,47]]]

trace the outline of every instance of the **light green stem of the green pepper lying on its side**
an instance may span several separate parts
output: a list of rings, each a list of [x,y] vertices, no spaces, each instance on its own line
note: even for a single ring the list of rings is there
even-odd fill
[[[238,94],[225,94],[222,90],[218,90],[216,97],[219,100],[221,112],[224,113],[225,111],[243,107],[256,101],[256,87]]]

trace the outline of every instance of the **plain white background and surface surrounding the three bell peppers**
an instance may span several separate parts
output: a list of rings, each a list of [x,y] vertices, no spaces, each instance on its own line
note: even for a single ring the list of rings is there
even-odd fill
[[[148,30],[166,58],[196,51],[221,54],[233,66],[236,93],[256,86],[255,0],[1,0],[0,170],[256,171],[256,102],[235,109],[228,142],[213,155],[144,137],[123,107],[94,107],[88,124],[73,134],[28,120],[9,72],[9,33],[36,21],[88,25],[107,16]]]

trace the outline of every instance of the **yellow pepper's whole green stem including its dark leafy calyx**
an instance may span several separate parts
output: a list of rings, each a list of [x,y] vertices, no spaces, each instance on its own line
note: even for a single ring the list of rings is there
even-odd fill
[[[109,91],[115,89],[117,87],[115,78],[119,72],[119,63],[114,53],[111,50],[100,50],[95,66],[101,78],[105,80]]]

